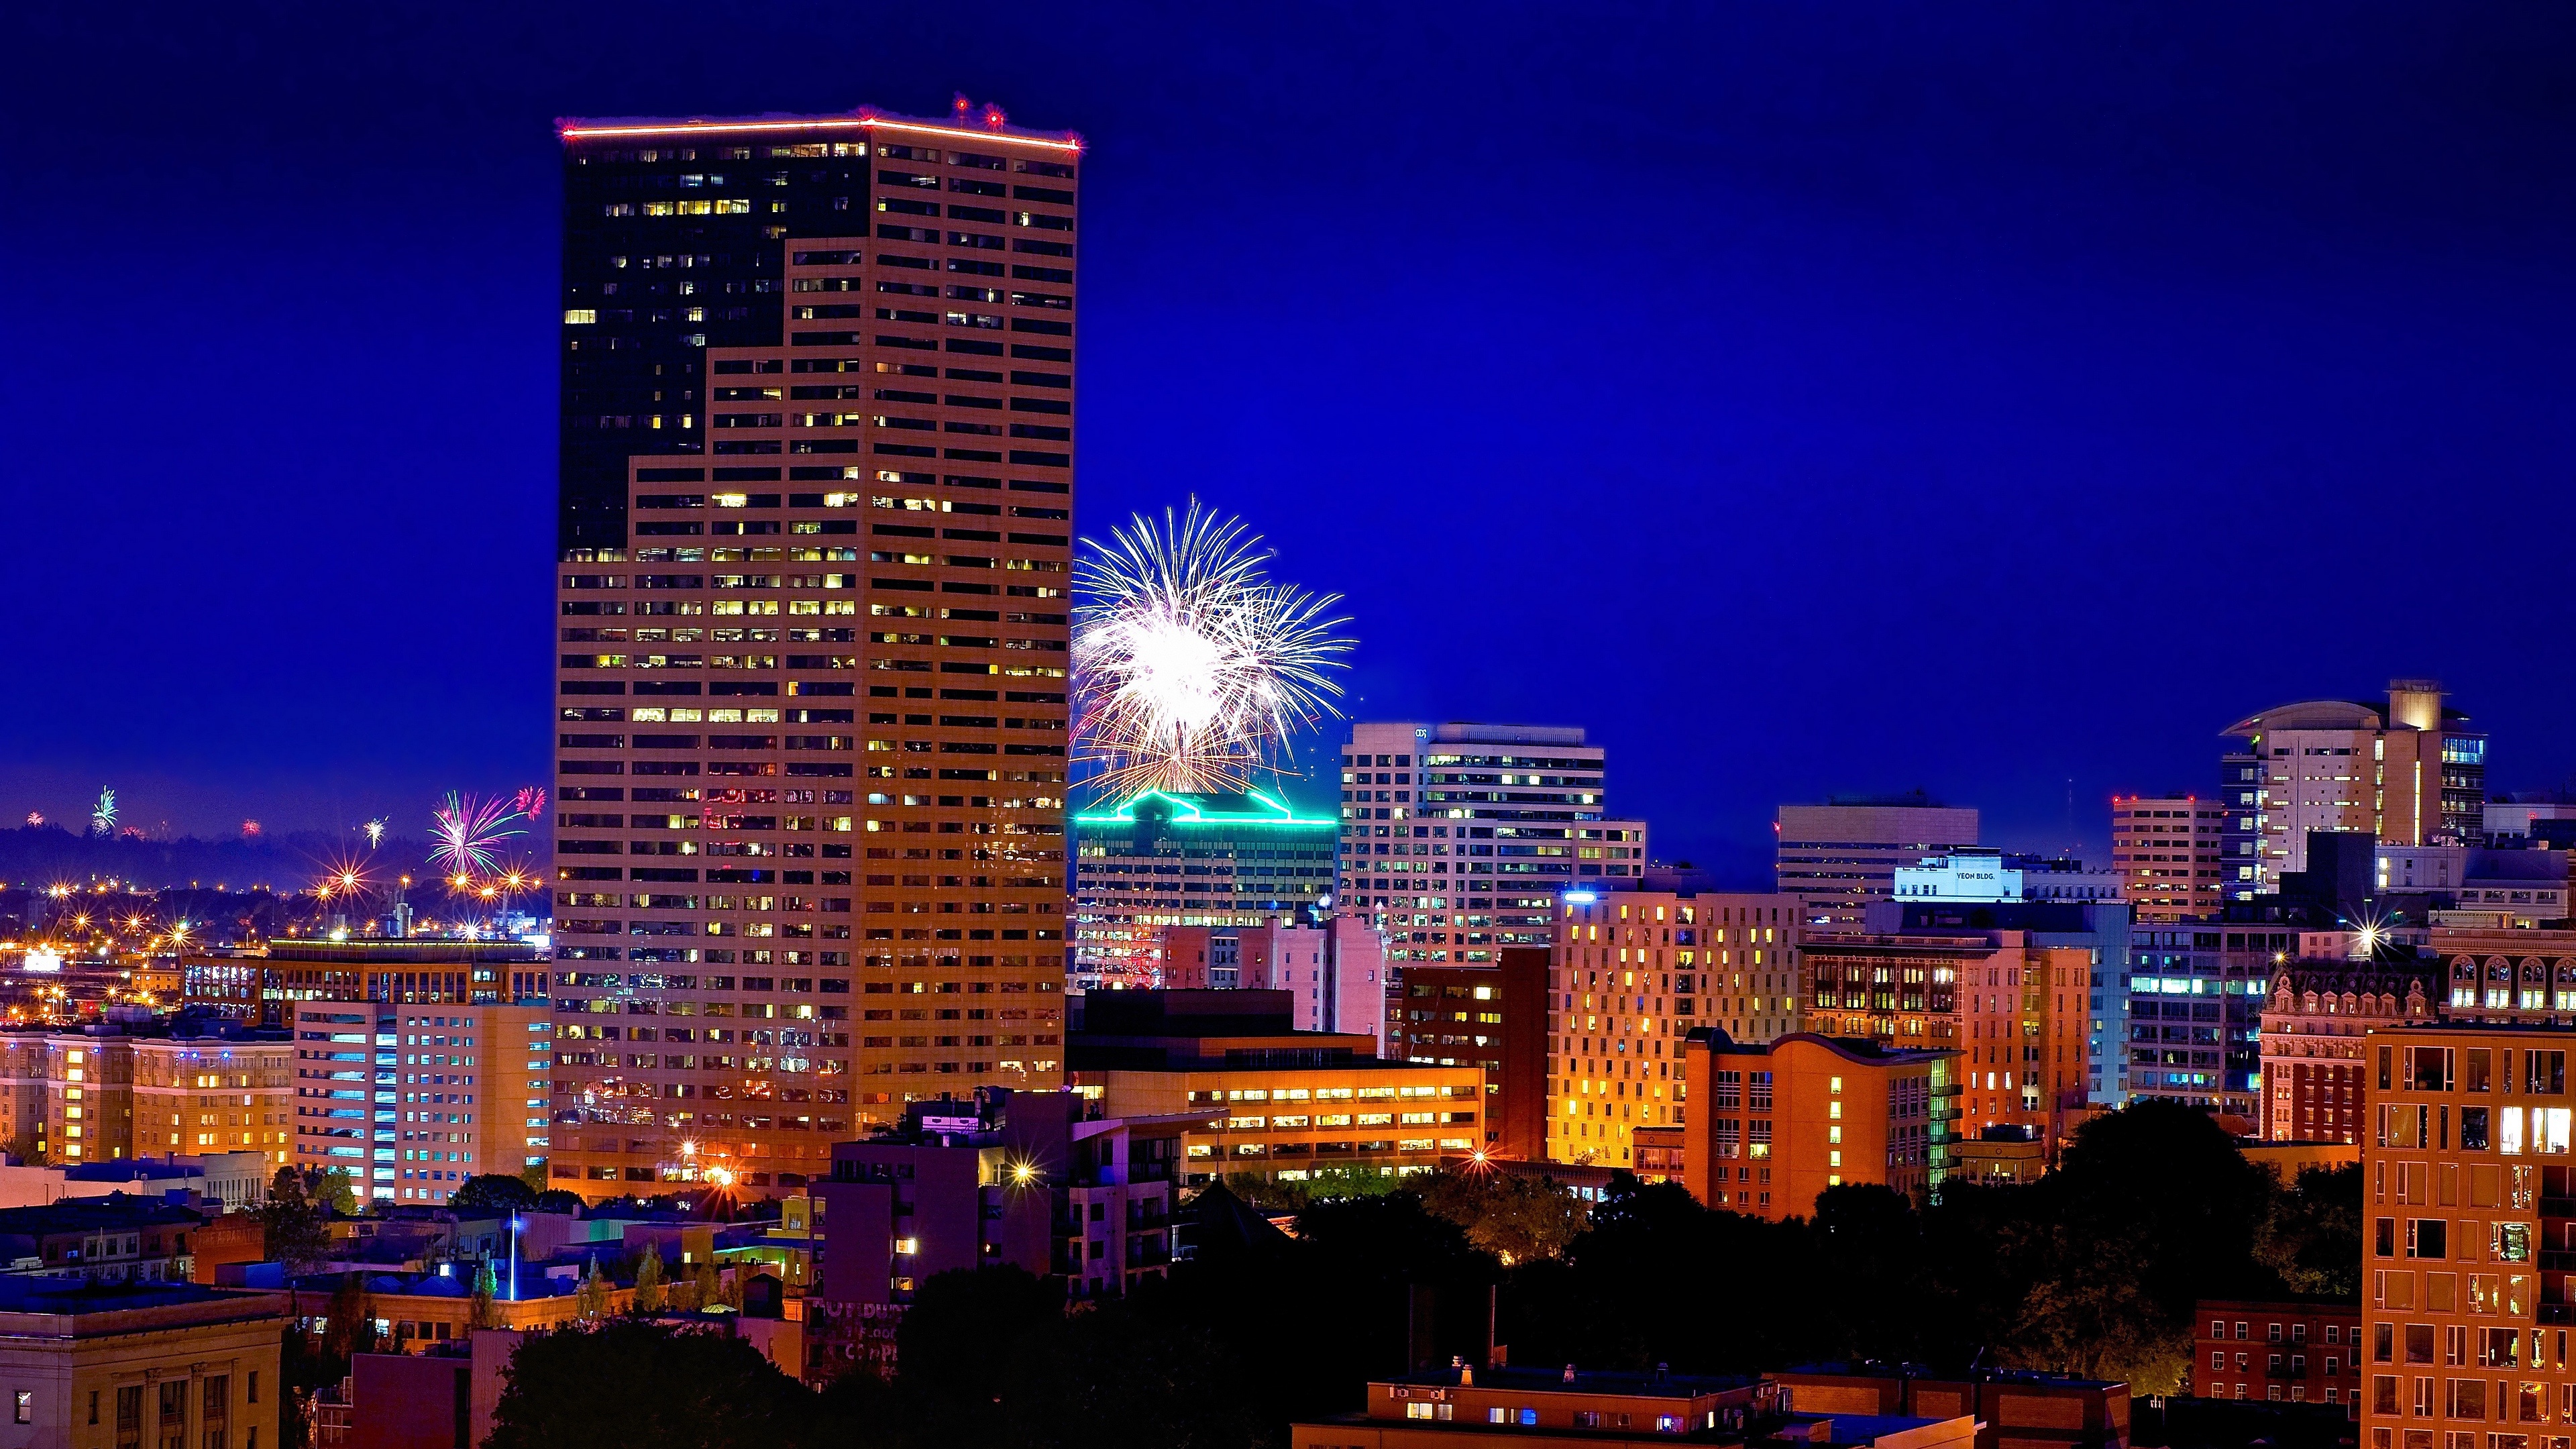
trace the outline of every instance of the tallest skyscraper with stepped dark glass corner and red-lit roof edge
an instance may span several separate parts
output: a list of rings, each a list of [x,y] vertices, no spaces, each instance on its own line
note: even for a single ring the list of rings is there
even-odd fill
[[[564,121],[554,1178],[1064,1080],[1082,142]]]

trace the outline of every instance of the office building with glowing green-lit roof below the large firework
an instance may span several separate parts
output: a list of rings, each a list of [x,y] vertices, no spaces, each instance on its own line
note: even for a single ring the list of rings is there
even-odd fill
[[[1074,815],[1074,987],[1157,987],[1172,926],[1293,926],[1332,900],[1340,825],[1285,797],[1149,789]]]

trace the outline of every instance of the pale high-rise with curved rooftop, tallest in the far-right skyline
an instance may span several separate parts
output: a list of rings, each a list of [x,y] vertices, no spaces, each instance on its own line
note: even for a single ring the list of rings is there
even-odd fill
[[[2228,789],[2228,900],[2277,892],[2308,869],[2308,835],[2357,830],[2388,846],[2463,846],[2486,830],[2486,735],[2424,678],[2385,701],[2308,699],[2249,714],[2221,735]]]

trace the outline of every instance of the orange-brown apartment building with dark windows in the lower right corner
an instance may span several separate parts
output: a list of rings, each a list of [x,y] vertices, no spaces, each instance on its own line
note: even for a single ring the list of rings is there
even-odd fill
[[[2372,1449],[2543,1449],[2576,1426],[2571,1049],[2566,1026],[2393,1026],[2365,1039]]]

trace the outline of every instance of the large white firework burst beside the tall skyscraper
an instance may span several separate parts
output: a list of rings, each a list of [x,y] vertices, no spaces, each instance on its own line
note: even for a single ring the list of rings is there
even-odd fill
[[[1340,717],[1340,596],[1273,583],[1242,521],[1193,498],[1185,516],[1139,513],[1084,549],[1074,758],[1108,797],[1247,789],[1298,730]]]

